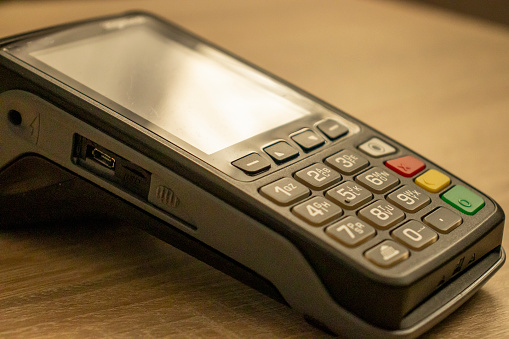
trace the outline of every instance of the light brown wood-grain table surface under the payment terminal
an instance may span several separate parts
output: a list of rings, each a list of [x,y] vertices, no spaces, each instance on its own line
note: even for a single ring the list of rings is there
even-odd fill
[[[404,1],[0,1],[0,36],[135,8],[355,115],[509,211],[507,28]],[[509,337],[509,265],[426,336]],[[328,335],[131,225],[77,221],[0,230],[0,337]]]

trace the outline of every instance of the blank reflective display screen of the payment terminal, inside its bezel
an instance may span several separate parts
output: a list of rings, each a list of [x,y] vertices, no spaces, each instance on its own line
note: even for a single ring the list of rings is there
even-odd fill
[[[30,56],[206,154],[310,114],[234,59],[144,25]]]

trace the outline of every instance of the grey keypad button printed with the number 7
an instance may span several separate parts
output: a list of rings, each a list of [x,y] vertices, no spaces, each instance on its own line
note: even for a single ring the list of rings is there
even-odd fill
[[[332,226],[325,233],[345,246],[355,247],[375,236],[373,227],[356,217],[346,217]]]

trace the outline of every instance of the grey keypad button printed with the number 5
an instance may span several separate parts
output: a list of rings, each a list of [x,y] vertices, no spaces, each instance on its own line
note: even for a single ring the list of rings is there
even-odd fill
[[[373,199],[373,194],[353,181],[346,181],[328,190],[325,197],[345,209],[353,210]]]

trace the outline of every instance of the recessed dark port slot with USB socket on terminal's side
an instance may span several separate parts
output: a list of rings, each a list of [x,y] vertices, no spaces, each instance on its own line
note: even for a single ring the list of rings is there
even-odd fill
[[[79,134],[74,135],[73,162],[108,182],[148,199],[152,174]]]

